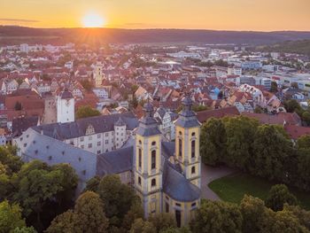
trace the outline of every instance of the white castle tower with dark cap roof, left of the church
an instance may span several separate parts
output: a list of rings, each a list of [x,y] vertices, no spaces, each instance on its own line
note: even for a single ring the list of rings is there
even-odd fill
[[[65,88],[57,97],[57,122],[74,121],[74,96]]]

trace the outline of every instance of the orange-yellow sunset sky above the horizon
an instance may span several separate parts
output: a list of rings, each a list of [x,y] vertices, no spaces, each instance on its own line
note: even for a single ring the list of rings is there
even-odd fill
[[[310,31],[310,0],[0,0],[0,25]]]

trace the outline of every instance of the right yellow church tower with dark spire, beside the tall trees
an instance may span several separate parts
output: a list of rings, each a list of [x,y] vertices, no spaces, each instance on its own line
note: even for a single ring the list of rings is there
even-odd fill
[[[175,121],[175,162],[185,177],[200,188],[201,158],[199,153],[200,123],[191,110],[190,94],[182,99],[182,112]]]

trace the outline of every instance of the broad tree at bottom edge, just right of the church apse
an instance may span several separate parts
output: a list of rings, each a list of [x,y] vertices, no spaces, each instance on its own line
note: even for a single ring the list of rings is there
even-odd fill
[[[227,202],[205,200],[190,225],[193,232],[229,233],[241,232],[242,222],[243,218],[238,206]]]

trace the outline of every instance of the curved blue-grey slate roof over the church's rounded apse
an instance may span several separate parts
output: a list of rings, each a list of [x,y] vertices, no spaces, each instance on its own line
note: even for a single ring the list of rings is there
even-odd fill
[[[169,161],[164,165],[163,191],[174,200],[182,202],[195,201],[200,197],[198,187],[177,172]]]

